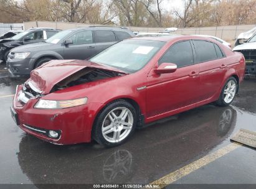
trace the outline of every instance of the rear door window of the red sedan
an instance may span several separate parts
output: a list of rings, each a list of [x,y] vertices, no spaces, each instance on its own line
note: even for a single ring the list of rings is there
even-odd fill
[[[193,40],[193,44],[196,48],[197,63],[217,59],[217,53],[212,42],[207,42],[205,40]]]

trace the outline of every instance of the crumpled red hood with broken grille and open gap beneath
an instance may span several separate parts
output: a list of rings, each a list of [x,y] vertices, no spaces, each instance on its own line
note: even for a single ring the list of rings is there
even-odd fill
[[[126,74],[116,68],[82,60],[54,60],[31,72],[31,78],[21,86],[22,90],[17,94],[17,101],[24,105],[29,99],[40,99],[55,91]]]

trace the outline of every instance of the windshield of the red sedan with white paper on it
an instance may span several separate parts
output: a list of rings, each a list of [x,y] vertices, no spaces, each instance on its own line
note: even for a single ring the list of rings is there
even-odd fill
[[[124,40],[98,53],[90,61],[133,73],[143,68],[164,44],[154,40]]]

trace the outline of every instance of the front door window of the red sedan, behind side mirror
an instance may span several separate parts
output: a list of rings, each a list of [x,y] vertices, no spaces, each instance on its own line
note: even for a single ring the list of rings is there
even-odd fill
[[[191,44],[188,40],[178,42],[167,50],[163,57],[159,60],[161,63],[175,63],[178,68],[192,65],[194,62]]]

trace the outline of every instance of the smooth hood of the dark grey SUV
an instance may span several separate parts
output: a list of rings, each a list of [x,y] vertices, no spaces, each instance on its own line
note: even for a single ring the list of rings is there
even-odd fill
[[[11,52],[14,52],[14,53],[16,53],[16,52],[34,52],[34,51],[38,51],[41,49],[50,50],[50,48],[52,48],[53,46],[55,46],[55,44],[39,42],[36,44],[27,44],[27,45],[22,45],[20,47],[16,47],[16,48],[12,49]]]

